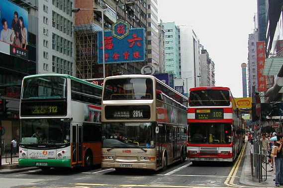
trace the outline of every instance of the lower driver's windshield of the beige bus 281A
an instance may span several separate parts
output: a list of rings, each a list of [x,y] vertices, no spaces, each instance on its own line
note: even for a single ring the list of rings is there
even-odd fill
[[[154,148],[152,123],[102,125],[104,148]]]

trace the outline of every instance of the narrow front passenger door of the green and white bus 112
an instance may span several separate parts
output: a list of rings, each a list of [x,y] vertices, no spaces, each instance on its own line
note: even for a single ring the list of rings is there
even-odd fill
[[[83,127],[72,125],[72,165],[83,163]]]

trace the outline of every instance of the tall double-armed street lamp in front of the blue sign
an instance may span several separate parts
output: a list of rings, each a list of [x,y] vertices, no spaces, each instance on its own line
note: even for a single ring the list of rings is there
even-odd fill
[[[105,52],[104,52],[104,11],[108,10],[110,8],[115,8],[118,6],[122,6],[122,5],[131,5],[133,4],[133,1],[127,0],[126,3],[123,4],[118,4],[116,6],[109,6],[107,8],[102,8],[102,9],[97,9],[97,8],[72,8],[72,12],[79,12],[80,10],[95,10],[95,11],[100,11],[101,12],[101,22],[102,22],[102,63],[103,63],[103,79],[105,78]]]

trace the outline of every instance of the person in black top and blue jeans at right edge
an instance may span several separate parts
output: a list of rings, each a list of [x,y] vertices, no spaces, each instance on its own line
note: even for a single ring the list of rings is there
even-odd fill
[[[278,147],[277,156],[275,158],[275,169],[276,169],[276,178],[275,178],[275,186],[280,187],[283,185],[283,152],[282,152],[282,135],[277,136],[277,142],[274,144]]]

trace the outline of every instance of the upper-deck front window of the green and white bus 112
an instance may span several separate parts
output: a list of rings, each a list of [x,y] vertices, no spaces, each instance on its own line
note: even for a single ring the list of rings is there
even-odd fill
[[[26,78],[23,81],[22,99],[64,98],[67,96],[67,79],[56,76]]]

